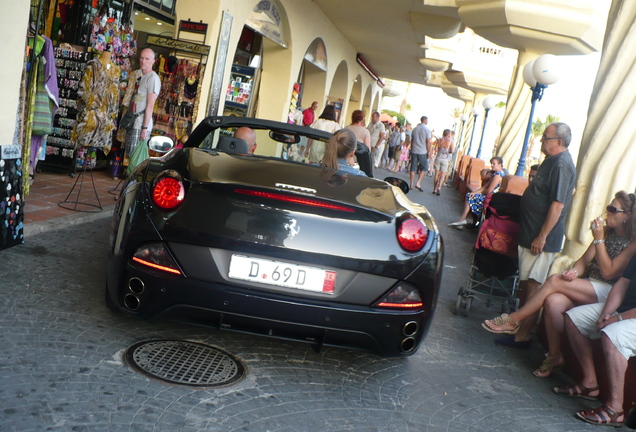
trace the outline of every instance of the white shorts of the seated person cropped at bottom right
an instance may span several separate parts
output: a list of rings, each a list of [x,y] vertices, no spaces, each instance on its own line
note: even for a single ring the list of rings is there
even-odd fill
[[[596,331],[596,321],[603,312],[603,306],[605,303],[577,306],[566,313],[583,336],[598,339],[601,334]],[[636,319],[617,321],[601,332],[605,333],[623,357],[629,359],[636,356]]]

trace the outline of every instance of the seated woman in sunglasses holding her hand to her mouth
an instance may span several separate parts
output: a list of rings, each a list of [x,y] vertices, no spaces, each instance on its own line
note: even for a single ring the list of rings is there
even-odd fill
[[[511,314],[486,320],[482,326],[492,333],[516,334],[521,321],[544,308],[549,352],[534,375],[547,378],[564,363],[561,337],[565,311],[589,303],[604,302],[636,252],[636,197],[620,191],[606,207],[602,218],[590,223],[594,240],[572,268],[550,276],[526,304]]]

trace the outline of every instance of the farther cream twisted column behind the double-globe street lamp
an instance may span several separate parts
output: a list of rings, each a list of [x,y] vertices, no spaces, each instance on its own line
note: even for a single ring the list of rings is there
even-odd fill
[[[532,91],[523,81],[523,68],[539,57],[533,52],[519,52],[517,66],[512,73],[510,89],[506,99],[506,112],[501,121],[501,133],[496,155],[504,160],[504,166],[508,171],[514,173],[517,170],[521,148],[528,127],[528,117],[530,116],[530,101]],[[539,102],[540,103],[540,102]]]

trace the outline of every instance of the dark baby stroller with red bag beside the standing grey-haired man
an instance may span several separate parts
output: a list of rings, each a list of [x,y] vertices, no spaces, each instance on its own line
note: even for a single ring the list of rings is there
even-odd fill
[[[468,316],[475,298],[485,300],[487,307],[493,301],[501,301],[503,313],[519,307],[517,234],[520,204],[520,195],[499,192],[486,197],[470,274],[457,292],[455,315]]]

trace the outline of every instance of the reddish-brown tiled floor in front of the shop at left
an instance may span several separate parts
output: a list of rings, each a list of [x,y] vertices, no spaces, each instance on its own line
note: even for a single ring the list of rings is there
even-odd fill
[[[40,222],[80,212],[100,212],[103,211],[99,209],[100,206],[102,209],[112,208],[121,185],[117,189],[117,194],[110,191],[118,185],[119,180],[113,179],[109,170],[95,170],[92,175],[91,171],[78,171],[75,177],[64,172],[36,173],[29,195],[25,199],[24,223]],[[71,189],[73,193],[69,196]],[[59,203],[63,203],[64,207]]]

